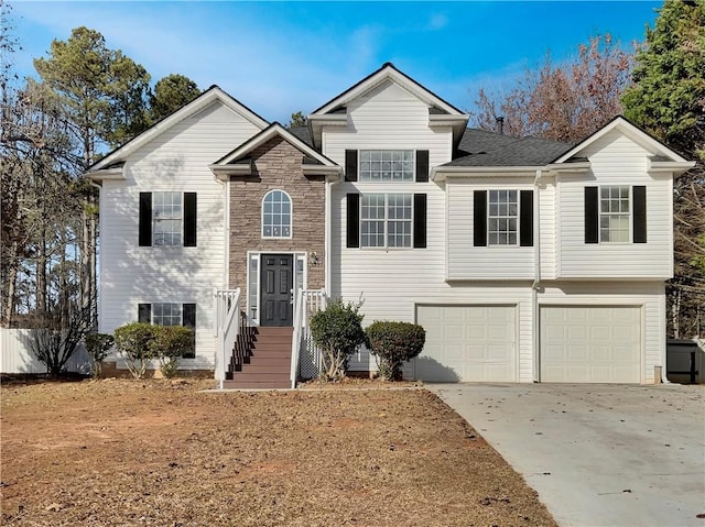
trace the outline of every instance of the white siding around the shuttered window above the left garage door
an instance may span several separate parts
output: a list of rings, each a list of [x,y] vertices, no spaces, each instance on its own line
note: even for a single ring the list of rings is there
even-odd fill
[[[534,276],[533,246],[474,246],[473,244],[473,193],[475,190],[486,190],[487,188],[512,190],[519,195],[519,190],[531,190],[533,187],[530,183],[525,183],[502,188],[497,185],[496,179],[490,177],[474,177],[466,180],[454,179],[446,183],[448,201],[447,279],[532,279]],[[429,240],[431,240],[431,235]]]

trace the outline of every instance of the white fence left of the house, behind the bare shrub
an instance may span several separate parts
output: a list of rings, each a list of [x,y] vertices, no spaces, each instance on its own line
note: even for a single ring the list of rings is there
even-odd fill
[[[31,331],[0,328],[0,373],[46,373],[46,365],[37,361],[30,349]],[[66,363],[66,371],[90,373],[88,353],[83,343]]]

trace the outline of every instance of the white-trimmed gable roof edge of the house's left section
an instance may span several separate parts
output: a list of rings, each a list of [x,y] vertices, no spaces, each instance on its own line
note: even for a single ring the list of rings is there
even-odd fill
[[[248,107],[242,105],[230,95],[226,94],[218,86],[214,85],[206,91],[200,94],[198,97],[196,97],[194,100],[173,112],[171,116],[167,116],[161,121],[158,121],[138,136],[110,152],[102,160],[90,166],[87,171],[87,175],[89,177],[100,179],[100,171],[107,169],[109,166],[115,165],[116,163],[124,162],[127,156],[133,153],[135,150],[152,141],[154,138],[165,132],[178,122],[183,121],[184,119],[208,107],[215,101],[219,101],[224,106],[230,108],[232,111],[239,113],[260,130],[264,129],[269,124],[264,119],[254,113]]]

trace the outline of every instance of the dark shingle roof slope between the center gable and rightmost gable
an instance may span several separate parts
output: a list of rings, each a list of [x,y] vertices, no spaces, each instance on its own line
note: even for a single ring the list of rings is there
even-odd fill
[[[540,166],[574,145],[539,138],[512,138],[466,129],[455,158],[443,166]]]

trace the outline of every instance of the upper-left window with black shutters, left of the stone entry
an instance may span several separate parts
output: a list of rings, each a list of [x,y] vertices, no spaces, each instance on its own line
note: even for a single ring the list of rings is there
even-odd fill
[[[140,246],[196,246],[196,193],[140,193]]]

